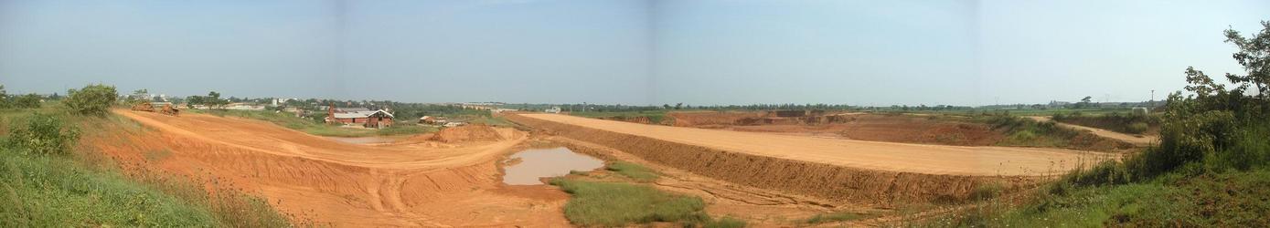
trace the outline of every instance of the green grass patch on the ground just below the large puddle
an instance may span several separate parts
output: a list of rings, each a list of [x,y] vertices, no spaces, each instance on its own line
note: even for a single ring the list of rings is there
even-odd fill
[[[650,222],[705,223],[705,201],[696,196],[664,193],[650,186],[624,182],[593,182],[551,179],[573,195],[564,205],[569,222],[583,227],[621,227]]]

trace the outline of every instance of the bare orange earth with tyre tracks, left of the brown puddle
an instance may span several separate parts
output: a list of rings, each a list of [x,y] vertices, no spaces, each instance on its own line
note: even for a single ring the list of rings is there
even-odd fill
[[[114,110],[149,128],[99,139],[121,158],[168,149],[147,162],[168,172],[225,177],[286,213],[337,227],[566,227],[568,195],[550,186],[507,186],[498,161],[528,138],[497,129],[494,142],[352,144],[274,124],[203,114]],[[117,141],[117,142],[116,142]],[[124,161],[128,162],[128,161]]]

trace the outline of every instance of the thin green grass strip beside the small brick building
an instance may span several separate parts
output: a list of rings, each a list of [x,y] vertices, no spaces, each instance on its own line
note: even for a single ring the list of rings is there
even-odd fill
[[[240,117],[249,119],[265,120],[273,124],[278,124],[295,130],[305,132],[314,136],[326,136],[326,137],[372,137],[372,136],[400,136],[400,134],[422,134],[437,132],[434,127],[423,127],[413,124],[394,124],[384,129],[358,129],[358,128],[343,128],[338,125],[328,125],[324,123],[318,123],[311,119],[297,118],[290,113],[273,113],[273,111],[254,111],[254,110],[190,110],[193,113],[212,114],[220,117]]]

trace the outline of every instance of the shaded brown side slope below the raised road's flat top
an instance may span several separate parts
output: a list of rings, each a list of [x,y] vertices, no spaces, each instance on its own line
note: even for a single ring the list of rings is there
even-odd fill
[[[1035,182],[1029,177],[930,175],[862,170],[729,152],[521,115],[508,115],[508,119],[549,134],[612,147],[646,161],[697,175],[848,204],[894,205],[933,200],[961,200],[966,199],[977,186],[988,182],[1001,182],[1010,189]]]

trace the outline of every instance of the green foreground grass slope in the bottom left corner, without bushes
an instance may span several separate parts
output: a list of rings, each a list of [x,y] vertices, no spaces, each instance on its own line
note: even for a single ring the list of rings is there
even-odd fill
[[[62,157],[0,151],[0,227],[222,227],[192,204]]]

